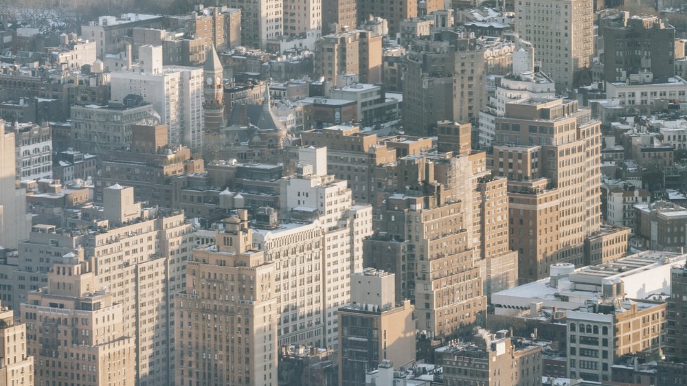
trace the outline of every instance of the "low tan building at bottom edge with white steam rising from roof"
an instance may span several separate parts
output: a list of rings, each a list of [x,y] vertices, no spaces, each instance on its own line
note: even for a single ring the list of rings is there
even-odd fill
[[[481,331],[475,343],[440,348],[444,385],[541,385],[541,345]]]

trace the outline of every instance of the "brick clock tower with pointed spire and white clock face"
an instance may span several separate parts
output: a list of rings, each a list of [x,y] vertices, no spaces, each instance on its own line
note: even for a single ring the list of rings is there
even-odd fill
[[[224,80],[222,63],[214,45],[210,47],[205,59],[203,78],[205,132],[218,133],[224,117]]]

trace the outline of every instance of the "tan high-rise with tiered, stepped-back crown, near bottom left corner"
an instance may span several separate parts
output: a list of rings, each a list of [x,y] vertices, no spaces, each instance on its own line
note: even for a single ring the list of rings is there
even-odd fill
[[[135,385],[136,339],[124,327],[124,305],[99,289],[84,249],[53,261],[47,286],[21,305],[27,347],[40,364],[36,385]]]

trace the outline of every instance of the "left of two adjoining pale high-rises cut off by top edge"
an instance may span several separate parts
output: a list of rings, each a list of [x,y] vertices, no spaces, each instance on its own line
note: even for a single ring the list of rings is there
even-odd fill
[[[241,10],[241,44],[266,48],[267,41],[284,33],[283,0],[229,0],[227,5]]]

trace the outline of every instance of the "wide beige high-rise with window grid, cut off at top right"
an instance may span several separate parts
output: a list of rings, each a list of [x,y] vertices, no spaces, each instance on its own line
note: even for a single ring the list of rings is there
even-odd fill
[[[515,30],[532,43],[534,60],[556,90],[585,83],[582,70],[594,56],[593,0],[531,0],[515,5]]]

